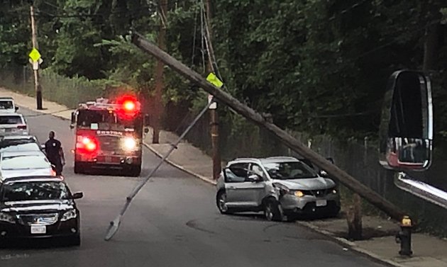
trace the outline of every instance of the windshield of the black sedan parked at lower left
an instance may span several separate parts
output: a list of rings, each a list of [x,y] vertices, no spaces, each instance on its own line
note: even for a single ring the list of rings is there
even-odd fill
[[[6,183],[2,192],[2,201],[62,200],[70,195],[65,183],[61,181]]]

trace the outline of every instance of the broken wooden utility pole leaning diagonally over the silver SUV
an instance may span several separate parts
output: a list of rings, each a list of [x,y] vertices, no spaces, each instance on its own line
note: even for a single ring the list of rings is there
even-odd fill
[[[165,51],[161,50],[159,47],[146,40],[143,35],[133,32],[132,42],[141,50],[148,52],[155,58],[161,60],[162,62],[165,62],[165,64],[171,69],[175,70],[175,72],[178,72],[185,78],[189,79],[189,81],[194,82],[194,84],[197,84],[197,86],[202,87],[202,89],[204,89],[206,92],[211,93],[211,95],[213,95],[221,103],[225,103],[227,106],[233,108],[233,110],[243,115],[248,120],[251,120],[253,123],[271,132],[283,144],[287,145],[287,147],[292,149],[294,152],[297,152],[302,157],[309,159],[313,164],[319,166],[328,174],[331,174],[331,176],[338,178],[338,180],[343,183],[344,186],[351,189],[351,191],[358,193],[358,195],[365,198],[365,200],[367,200],[369,203],[387,213],[387,215],[390,215],[392,219],[398,221],[402,220],[404,212],[402,212],[396,205],[390,203],[385,198],[382,198],[382,196],[380,196],[367,186],[363,185],[363,183],[357,181],[355,178],[353,178],[353,176],[347,174],[345,171],[339,169],[337,166],[333,165],[324,157],[321,157],[320,154],[306,147],[304,144],[292,137],[292,135],[289,135],[285,130],[282,130],[280,127],[277,127],[273,123],[267,122],[267,120],[265,120],[262,115],[257,113],[252,108],[245,106],[236,98],[233,98],[233,96],[231,96],[230,94],[214,87],[200,74],[194,72],[192,69],[189,69],[184,64],[182,64],[182,62],[179,62],[177,59],[171,57]]]

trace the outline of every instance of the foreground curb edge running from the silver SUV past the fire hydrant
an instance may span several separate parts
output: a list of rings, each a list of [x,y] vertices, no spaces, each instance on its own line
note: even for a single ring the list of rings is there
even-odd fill
[[[390,267],[407,267],[400,263],[397,263],[395,261],[382,259],[377,254],[374,254],[373,252],[370,252],[366,249],[359,248],[355,242],[351,242],[348,239],[344,239],[342,237],[334,237],[333,234],[329,231],[326,231],[324,229],[320,229],[319,227],[316,227],[314,225],[311,225],[309,222],[299,222],[297,221],[298,225],[301,225],[302,227],[307,227],[308,229],[311,229],[312,231],[323,234],[326,237],[329,237],[329,239],[332,239],[334,242],[341,244],[342,246],[348,246],[349,249],[352,251],[357,252],[358,254],[362,254],[363,256],[366,256],[368,259],[371,259],[377,263],[385,264],[386,266]]]

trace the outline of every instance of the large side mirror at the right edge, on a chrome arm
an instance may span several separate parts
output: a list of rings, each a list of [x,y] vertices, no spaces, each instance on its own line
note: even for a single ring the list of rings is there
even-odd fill
[[[428,76],[407,70],[390,76],[379,137],[379,162],[386,169],[429,169],[433,152],[433,107]]]

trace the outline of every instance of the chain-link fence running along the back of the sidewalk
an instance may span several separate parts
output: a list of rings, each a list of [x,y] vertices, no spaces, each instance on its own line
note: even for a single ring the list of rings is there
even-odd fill
[[[112,89],[104,81],[87,81],[86,79],[70,79],[50,71],[41,73],[41,83],[45,99],[75,108],[77,103],[89,101],[101,96],[107,97]],[[0,86],[13,89],[27,95],[34,95],[33,76],[28,67],[3,69],[0,71]],[[153,101],[147,99],[145,111],[150,111]],[[151,106],[152,105],[152,106]],[[168,103],[162,116],[165,130],[180,134],[193,120],[196,113],[189,111],[186,104],[180,106]],[[272,157],[299,155],[285,147],[277,138],[260,127],[248,123],[240,115],[220,106],[219,136],[221,157],[224,161],[237,157]],[[297,140],[308,144],[311,149],[324,157],[331,157],[341,169],[357,178],[358,181],[409,212],[420,229],[447,236],[447,210],[428,203],[409,193],[399,190],[393,183],[394,173],[386,171],[378,164],[377,149],[370,140],[336,140],[319,135],[309,136],[301,132],[289,132]],[[204,115],[186,137],[186,140],[211,154],[211,137],[209,114]],[[443,150],[442,148],[437,148]],[[442,154],[442,153],[441,153]],[[447,161],[436,158],[429,171],[416,174],[418,178],[447,190]],[[350,198],[351,193],[344,194]],[[348,199],[349,200],[349,199]]]

